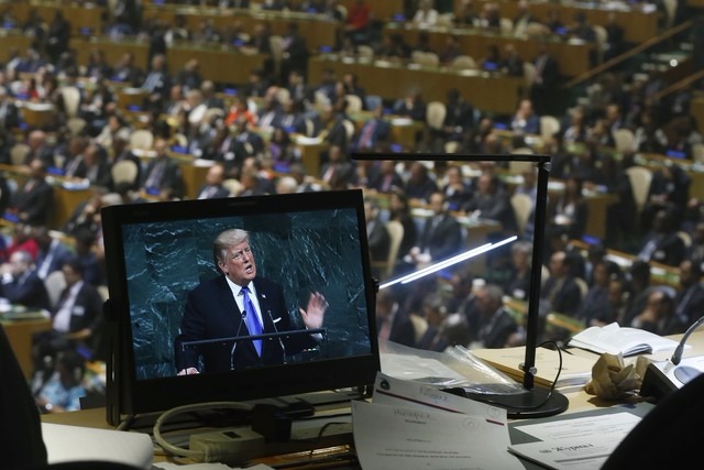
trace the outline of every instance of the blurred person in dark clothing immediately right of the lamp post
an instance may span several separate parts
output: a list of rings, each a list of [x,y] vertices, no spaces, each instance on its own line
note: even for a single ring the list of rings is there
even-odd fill
[[[582,302],[582,293],[572,274],[573,264],[572,258],[564,251],[557,251],[550,256],[550,275],[540,291],[540,307],[543,311],[570,316],[576,314]]]

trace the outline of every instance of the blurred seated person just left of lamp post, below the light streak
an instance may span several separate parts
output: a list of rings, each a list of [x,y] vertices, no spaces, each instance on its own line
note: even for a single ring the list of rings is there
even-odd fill
[[[506,348],[522,342],[514,317],[504,308],[504,291],[486,284],[474,292],[474,310],[470,314],[470,348]]]

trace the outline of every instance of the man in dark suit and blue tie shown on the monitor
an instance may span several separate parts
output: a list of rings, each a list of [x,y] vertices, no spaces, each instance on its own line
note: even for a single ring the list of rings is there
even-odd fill
[[[221,232],[213,242],[213,256],[222,274],[207,280],[187,297],[180,335],[176,338],[176,370],[194,374],[202,356],[202,372],[221,372],[256,365],[280,364],[286,354],[317,345],[317,335],[294,335],[273,340],[230,338],[277,334],[295,328],[288,316],[282,287],[256,275],[249,233],[241,229]],[[308,329],[322,327],[328,303],[311,293],[306,309],[299,308]],[[223,338],[207,347],[188,347],[188,341]],[[261,345],[257,345],[261,342]],[[260,350],[257,350],[260,348]]]

